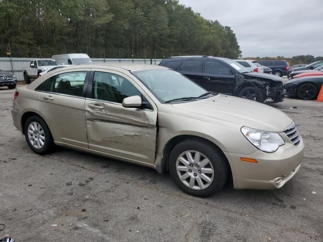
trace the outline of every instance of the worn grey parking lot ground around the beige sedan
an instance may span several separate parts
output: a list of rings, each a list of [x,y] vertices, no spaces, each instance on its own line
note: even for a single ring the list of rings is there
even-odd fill
[[[285,187],[233,190],[229,182],[210,198],[196,198],[153,169],[63,148],[33,153],[12,124],[13,93],[0,88],[0,238],[323,240],[321,102],[286,98],[271,104],[295,120],[306,143],[302,166]]]

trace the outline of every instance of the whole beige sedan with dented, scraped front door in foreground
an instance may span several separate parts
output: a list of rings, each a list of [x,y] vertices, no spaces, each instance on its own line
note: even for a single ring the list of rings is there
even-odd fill
[[[284,112],[153,65],[55,70],[17,88],[12,116],[37,154],[57,144],[169,171],[194,196],[212,195],[229,176],[237,189],[281,188],[304,151]]]

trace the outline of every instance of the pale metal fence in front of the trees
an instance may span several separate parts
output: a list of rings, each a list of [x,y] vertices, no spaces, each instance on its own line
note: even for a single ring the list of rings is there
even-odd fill
[[[23,68],[29,67],[32,59],[40,58],[12,58],[0,57],[0,70],[13,73],[18,81],[24,80],[22,73]],[[103,59],[103,58],[92,58],[93,63],[136,63],[136,64],[147,64],[147,65],[158,65],[162,59]]]

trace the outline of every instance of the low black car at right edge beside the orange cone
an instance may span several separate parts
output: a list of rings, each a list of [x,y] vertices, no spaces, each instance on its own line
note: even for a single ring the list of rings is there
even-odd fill
[[[322,83],[323,76],[294,78],[285,83],[286,94],[303,100],[314,100]]]

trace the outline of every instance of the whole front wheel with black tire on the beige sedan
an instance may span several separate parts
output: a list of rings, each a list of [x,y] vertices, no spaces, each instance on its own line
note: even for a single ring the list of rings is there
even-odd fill
[[[186,157],[186,161],[189,160],[186,152],[189,152],[190,157],[196,160],[184,165],[182,158]],[[196,154],[200,154],[200,159]],[[205,159],[208,159],[209,162]],[[208,163],[205,164],[205,162]],[[191,139],[184,140],[173,148],[169,157],[169,171],[176,185],[182,191],[192,196],[208,197],[221,190],[225,185],[229,174],[229,165],[219,148],[203,140]],[[206,173],[211,171],[213,173]],[[186,176],[187,178],[184,179]],[[202,178],[205,176],[208,179],[207,177],[206,179]],[[180,177],[184,180],[182,181]],[[202,185],[200,185],[201,183]]]

